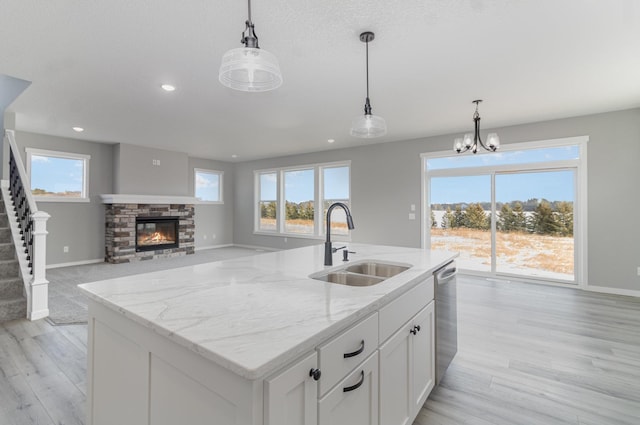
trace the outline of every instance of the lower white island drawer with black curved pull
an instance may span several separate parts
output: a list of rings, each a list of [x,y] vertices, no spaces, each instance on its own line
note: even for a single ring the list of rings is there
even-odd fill
[[[378,353],[340,381],[318,406],[320,425],[378,425]]]

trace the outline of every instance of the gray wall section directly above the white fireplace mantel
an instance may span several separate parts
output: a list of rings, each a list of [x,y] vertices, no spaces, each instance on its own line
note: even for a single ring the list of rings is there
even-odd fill
[[[186,153],[120,143],[116,154],[115,193],[189,196]],[[160,165],[153,165],[154,160],[160,161]]]

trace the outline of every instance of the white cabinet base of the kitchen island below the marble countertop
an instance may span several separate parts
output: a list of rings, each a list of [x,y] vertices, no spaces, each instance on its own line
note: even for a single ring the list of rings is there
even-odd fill
[[[266,378],[90,301],[89,425],[410,425],[434,385],[433,278]]]

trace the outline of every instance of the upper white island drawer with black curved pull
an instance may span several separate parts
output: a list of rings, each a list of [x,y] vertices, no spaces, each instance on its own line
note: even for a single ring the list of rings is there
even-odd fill
[[[377,349],[378,313],[318,347],[318,364],[322,372],[318,381],[320,397]]]

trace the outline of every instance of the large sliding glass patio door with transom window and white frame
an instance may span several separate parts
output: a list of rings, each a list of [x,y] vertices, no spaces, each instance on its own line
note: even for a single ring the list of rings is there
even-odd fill
[[[475,274],[580,283],[587,140],[423,155],[425,246],[460,252]]]

